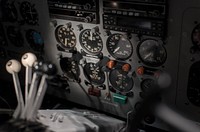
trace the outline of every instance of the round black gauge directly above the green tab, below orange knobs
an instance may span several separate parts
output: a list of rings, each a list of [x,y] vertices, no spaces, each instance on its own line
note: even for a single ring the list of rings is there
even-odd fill
[[[127,93],[133,88],[133,79],[127,76],[127,73],[114,69],[110,72],[109,80],[113,88],[117,91]]]

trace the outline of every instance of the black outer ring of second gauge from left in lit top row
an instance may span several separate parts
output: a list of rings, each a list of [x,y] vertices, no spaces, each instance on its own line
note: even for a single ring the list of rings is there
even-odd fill
[[[91,29],[85,29],[85,30],[83,30],[83,31],[80,33],[80,35],[79,35],[79,42],[80,42],[81,47],[82,47],[82,48],[84,49],[84,51],[85,51],[86,53],[88,53],[88,54],[91,54],[91,55],[98,55],[98,54],[100,54],[101,51],[103,50],[103,40],[102,40],[100,34],[98,34],[98,35],[99,35],[99,38],[100,38],[100,40],[101,40],[102,46],[101,46],[101,49],[100,49],[98,52],[91,52],[91,51],[89,51],[89,50],[83,45],[83,43],[82,43],[82,36],[83,36],[83,34],[84,34],[85,32],[87,32],[87,31],[91,31]]]

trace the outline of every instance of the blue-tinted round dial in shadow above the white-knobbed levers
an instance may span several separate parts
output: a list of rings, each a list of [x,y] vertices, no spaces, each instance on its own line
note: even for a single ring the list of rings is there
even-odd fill
[[[29,29],[26,32],[26,39],[34,50],[41,51],[43,49],[44,42],[39,32]]]

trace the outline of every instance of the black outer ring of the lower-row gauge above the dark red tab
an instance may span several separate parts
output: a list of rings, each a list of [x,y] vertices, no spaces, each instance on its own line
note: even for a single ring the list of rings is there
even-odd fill
[[[87,70],[89,70],[88,67],[89,67],[90,64],[95,65],[95,63],[86,63],[86,64],[84,65],[84,67],[83,67],[83,73],[84,73],[85,78],[86,78],[90,83],[92,83],[92,84],[94,84],[94,85],[98,85],[98,86],[102,85],[102,84],[105,82],[105,80],[106,80],[106,75],[105,75],[105,73],[101,70],[101,67],[98,66],[98,67],[99,67],[99,70],[100,70],[100,72],[101,72],[101,80],[100,80],[99,82],[93,81],[93,80],[89,77],[89,75],[88,75],[88,73],[87,73]],[[103,75],[103,76],[102,76],[102,75]]]

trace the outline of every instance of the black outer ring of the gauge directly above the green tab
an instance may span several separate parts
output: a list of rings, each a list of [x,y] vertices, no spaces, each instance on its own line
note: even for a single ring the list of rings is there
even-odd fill
[[[109,82],[110,82],[112,88],[115,89],[116,91],[120,92],[120,93],[123,93],[123,94],[130,93],[130,92],[132,91],[133,87],[134,87],[133,78],[128,77],[127,73],[124,72],[124,74],[126,74],[126,76],[127,76],[127,77],[130,79],[130,81],[131,81],[131,82],[128,82],[128,84],[130,85],[130,86],[129,86],[130,88],[128,88],[127,90],[120,90],[120,88],[117,88],[117,87],[114,86],[113,81],[112,81],[112,79],[113,79],[112,73],[113,73],[113,72],[117,72],[117,71],[118,71],[119,73],[122,72],[122,73],[120,73],[120,74],[123,74],[123,71],[122,71],[121,69],[112,69],[112,70],[110,71],[110,74],[109,74]]]

